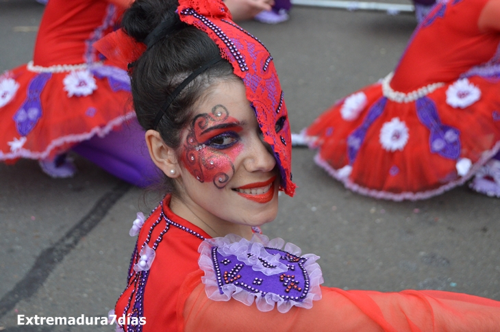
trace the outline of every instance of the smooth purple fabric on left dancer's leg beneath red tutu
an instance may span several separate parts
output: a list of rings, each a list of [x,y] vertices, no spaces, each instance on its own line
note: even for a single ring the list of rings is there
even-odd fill
[[[144,135],[134,120],[103,138],[94,136],[73,146],[73,151],[115,177],[146,187],[158,183],[160,173],[149,157]]]

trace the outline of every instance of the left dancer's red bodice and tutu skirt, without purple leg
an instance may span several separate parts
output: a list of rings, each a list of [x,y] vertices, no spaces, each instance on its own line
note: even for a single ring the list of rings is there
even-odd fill
[[[92,46],[121,12],[105,0],[49,1],[33,61],[0,76],[0,160],[51,159],[134,117],[127,73]]]

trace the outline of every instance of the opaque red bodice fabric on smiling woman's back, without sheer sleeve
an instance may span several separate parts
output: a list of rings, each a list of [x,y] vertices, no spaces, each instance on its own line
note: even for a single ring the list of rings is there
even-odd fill
[[[145,224],[142,225],[137,242],[138,251],[142,248],[142,244],[146,242],[150,229],[153,229],[150,237],[151,240],[149,240],[150,247],[165,229],[166,221],[164,218],[155,225],[162,209],[169,219],[177,222],[179,225],[188,227],[192,231],[196,231],[205,238],[210,238],[210,235],[199,229],[199,227],[173,214],[168,207],[168,203],[170,203],[170,196],[164,199],[163,205],[157,207],[153,214],[147,218]],[[199,253],[197,249],[200,243],[201,240],[194,235],[171,226],[160,244],[158,244],[155,259],[145,287],[143,316],[146,318],[147,324],[142,327],[142,331],[177,330],[176,312],[179,289],[186,276],[198,270]],[[137,255],[132,257],[132,259],[134,261],[133,264],[136,264]],[[132,272],[134,271],[132,270]],[[116,303],[115,313],[117,316],[122,316],[123,314],[127,316],[127,314],[132,313],[132,308],[136,302],[136,294],[138,294],[138,287],[138,273],[135,273]],[[131,295],[132,305],[128,305]],[[128,307],[127,311],[125,311],[126,307]],[[125,331],[128,331],[127,327],[125,327]]]

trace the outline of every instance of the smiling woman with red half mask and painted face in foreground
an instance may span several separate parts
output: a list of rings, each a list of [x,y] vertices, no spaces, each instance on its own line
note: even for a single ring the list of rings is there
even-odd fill
[[[449,292],[322,288],[318,257],[269,240],[292,196],[273,58],[218,0],[136,0],[101,52],[132,95],[167,194],[138,234],[117,331],[495,331],[500,303]]]

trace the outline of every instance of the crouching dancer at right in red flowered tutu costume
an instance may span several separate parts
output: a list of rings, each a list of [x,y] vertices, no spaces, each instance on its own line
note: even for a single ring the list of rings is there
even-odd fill
[[[427,199],[460,186],[500,197],[500,0],[449,0],[418,25],[395,72],[305,129],[316,163],[360,194]]]

